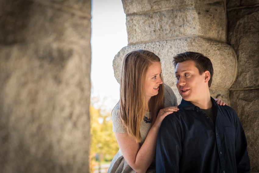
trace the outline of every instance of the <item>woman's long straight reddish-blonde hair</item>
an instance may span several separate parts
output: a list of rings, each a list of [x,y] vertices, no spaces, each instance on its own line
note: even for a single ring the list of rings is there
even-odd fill
[[[120,75],[120,121],[127,133],[141,142],[140,124],[146,110],[151,112],[152,125],[160,109],[164,108],[164,85],[159,85],[158,95],[149,104],[145,90],[148,67],[160,58],[147,50],[133,50],[123,59]],[[161,80],[162,76],[161,76]]]

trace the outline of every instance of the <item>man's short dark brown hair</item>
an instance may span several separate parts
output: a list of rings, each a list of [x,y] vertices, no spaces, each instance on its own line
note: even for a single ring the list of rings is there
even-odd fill
[[[192,60],[195,62],[196,68],[199,70],[200,75],[204,73],[204,71],[209,71],[211,74],[211,78],[208,82],[209,87],[211,87],[212,77],[213,77],[213,67],[211,60],[198,52],[184,52],[177,54],[174,56],[173,64],[176,68],[177,63],[181,63],[184,61]]]

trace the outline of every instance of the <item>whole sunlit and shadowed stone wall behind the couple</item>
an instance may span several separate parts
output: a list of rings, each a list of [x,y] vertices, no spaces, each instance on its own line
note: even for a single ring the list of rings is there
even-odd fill
[[[211,96],[239,115],[247,135],[251,171],[259,171],[259,1],[252,0],[122,0],[129,45],[113,60],[117,81],[122,59],[132,49],[161,58],[164,82],[178,103],[172,57],[194,51],[214,67]]]

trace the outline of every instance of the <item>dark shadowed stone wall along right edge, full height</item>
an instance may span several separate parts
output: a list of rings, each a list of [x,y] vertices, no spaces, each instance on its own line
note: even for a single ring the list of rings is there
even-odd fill
[[[230,88],[247,137],[251,172],[259,172],[259,1],[228,0],[228,43],[237,54],[237,77]]]

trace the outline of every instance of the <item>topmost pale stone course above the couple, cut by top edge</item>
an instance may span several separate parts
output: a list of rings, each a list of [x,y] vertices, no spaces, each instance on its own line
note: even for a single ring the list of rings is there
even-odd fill
[[[219,0],[218,2],[220,2]],[[170,9],[178,6],[192,6],[194,4],[215,2],[215,0],[122,0],[123,9],[125,14],[143,13],[147,11]]]

